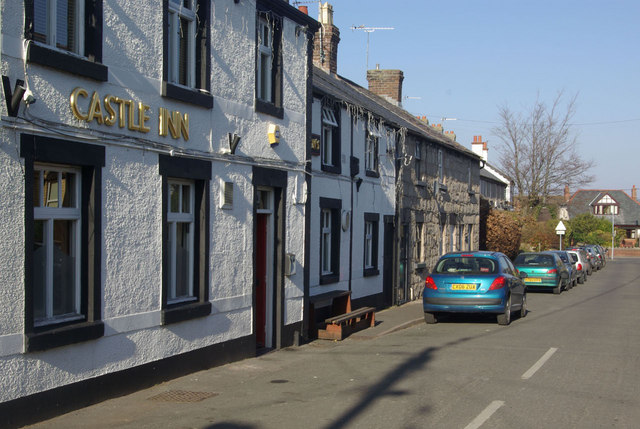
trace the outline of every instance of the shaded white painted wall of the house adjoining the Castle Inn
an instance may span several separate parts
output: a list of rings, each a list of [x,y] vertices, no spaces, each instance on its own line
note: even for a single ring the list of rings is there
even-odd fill
[[[321,100],[314,98],[312,108],[312,132],[321,134]],[[395,147],[392,130],[382,127],[384,137],[379,141],[379,178],[365,174],[365,132],[367,119],[359,117],[352,121],[345,108],[341,108],[341,174],[326,173],[321,170],[320,156],[312,157],[312,201],[310,226],[310,295],[331,290],[349,288],[351,276],[352,298],[358,299],[382,293],[383,283],[383,243],[384,216],[395,213],[395,170],[393,155],[387,154],[388,147]],[[353,156],[360,159],[362,184],[358,191],[350,177],[351,136],[353,128]],[[389,135],[387,135],[389,131]],[[393,153],[393,151],[392,151]],[[352,203],[353,193],[353,203]],[[351,212],[351,222],[347,231],[340,231],[340,278],[336,283],[320,285],[320,197],[342,201],[342,211]],[[378,270],[377,276],[363,276],[364,258],[364,213],[379,213],[378,223]],[[353,230],[353,231],[351,231]],[[351,265],[349,252],[352,251]]]

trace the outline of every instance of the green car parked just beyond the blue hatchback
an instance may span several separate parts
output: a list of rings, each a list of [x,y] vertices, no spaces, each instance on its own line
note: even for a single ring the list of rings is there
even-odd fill
[[[551,289],[559,294],[569,283],[569,271],[555,253],[521,253],[513,263],[521,273],[527,274],[524,278],[527,289]]]

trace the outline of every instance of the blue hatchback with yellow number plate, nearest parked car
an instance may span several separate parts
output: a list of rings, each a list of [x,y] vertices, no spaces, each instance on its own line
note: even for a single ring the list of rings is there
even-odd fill
[[[442,313],[493,313],[508,325],[513,311],[527,314],[524,277],[500,252],[447,253],[425,280],[424,320],[436,323]]]

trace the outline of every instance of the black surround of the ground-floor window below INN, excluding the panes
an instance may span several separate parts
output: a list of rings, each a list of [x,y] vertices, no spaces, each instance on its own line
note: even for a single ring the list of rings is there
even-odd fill
[[[209,220],[211,162],[168,155],[159,155],[158,172],[162,176],[162,310],[163,325],[178,323],[211,314],[209,301]],[[194,182],[194,260],[193,293],[195,301],[168,303],[169,248],[167,211],[170,179]]]

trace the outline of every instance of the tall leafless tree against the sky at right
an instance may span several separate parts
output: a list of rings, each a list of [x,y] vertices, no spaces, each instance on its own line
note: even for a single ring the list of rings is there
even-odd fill
[[[538,98],[526,113],[507,105],[499,108],[501,124],[493,130],[501,141],[499,162],[530,206],[545,203],[565,185],[583,187],[593,181],[589,172],[594,163],[580,157],[571,130],[576,96],[565,106],[562,101],[559,92],[551,107]]]

